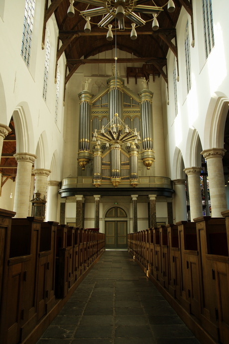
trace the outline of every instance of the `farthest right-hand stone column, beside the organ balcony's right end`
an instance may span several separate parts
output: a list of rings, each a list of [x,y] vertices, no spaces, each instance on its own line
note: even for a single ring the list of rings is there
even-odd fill
[[[176,222],[187,221],[185,179],[174,179]]]

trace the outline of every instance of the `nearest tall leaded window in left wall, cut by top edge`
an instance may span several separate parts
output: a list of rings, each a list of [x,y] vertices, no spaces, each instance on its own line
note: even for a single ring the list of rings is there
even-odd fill
[[[35,0],[25,0],[24,24],[21,42],[21,56],[27,67],[30,62]]]

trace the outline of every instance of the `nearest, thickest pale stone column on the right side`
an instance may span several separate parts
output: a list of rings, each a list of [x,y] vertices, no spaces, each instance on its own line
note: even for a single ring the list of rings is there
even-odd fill
[[[221,212],[228,209],[222,162],[225,152],[224,148],[211,148],[201,152],[207,162],[212,217],[222,217]]]

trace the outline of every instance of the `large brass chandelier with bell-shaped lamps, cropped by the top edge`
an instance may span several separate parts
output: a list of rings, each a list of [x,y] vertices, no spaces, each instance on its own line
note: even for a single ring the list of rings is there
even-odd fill
[[[68,8],[68,16],[73,17],[75,15],[74,0],[69,0],[70,6]],[[102,19],[96,23],[99,27],[108,28],[107,39],[113,39],[112,24],[114,19],[118,21],[118,29],[123,31],[125,28],[124,18],[128,18],[132,21],[130,38],[136,39],[137,33],[135,27],[145,25],[146,21],[141,18],[141,13],[152,14],[152,29],[158,30],[159,23],[157,20],[158,14],[163,11],[163,7],[167,5],[168,12],[175,10],[173,0],[166,1],[163,6],[157,6],[152,0],[153,5],[144,5],[144,2],[149,0],[78,0],[88,4],[87,9],[80,11],[80,14],[85,18],[86,24],[84,31],[91,32],[91,17],[102,15]],[[97,8],[88,9],[89,5],[98,6]],[[137,25],[137,26],[136,26]],[[116,27],[114,27],[116,29]]]

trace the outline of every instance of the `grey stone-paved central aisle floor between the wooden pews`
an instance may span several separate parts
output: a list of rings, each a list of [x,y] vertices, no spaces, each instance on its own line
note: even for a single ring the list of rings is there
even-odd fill
[[[199,344],[127,251],[106,250],[37,344]]]

